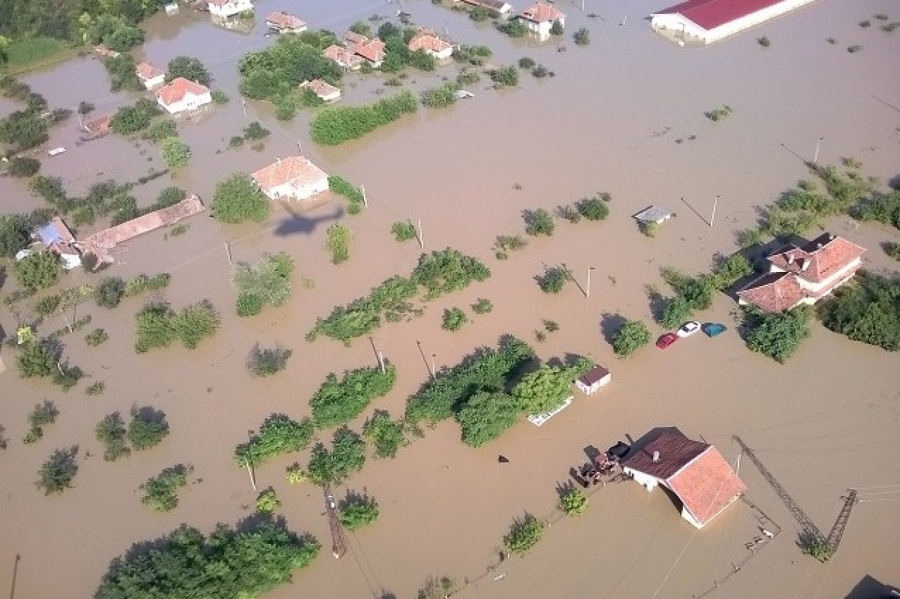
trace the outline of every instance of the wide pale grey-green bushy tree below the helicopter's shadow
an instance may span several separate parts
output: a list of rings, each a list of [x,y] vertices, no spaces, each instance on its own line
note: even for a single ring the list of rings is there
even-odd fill
[[[259,314],[264,306],[281,306],[291,294],[294,260],[286,253],[264,254],[254,264],[239,263],[232,275],[238,291],[238,316]]]

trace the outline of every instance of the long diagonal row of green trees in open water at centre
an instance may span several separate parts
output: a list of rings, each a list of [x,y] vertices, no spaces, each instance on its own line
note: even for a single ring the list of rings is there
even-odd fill
[[[366,335],[381,326],[382,317],[396,321],[414,311],[410,300],[419,289],[425,301],[445,293],[465,289],[476,281],[490,277],[490,270],[476,258],[447,248],[419,256],[419,263],[409,278],[399,275],[374,287],[367,297],[358,298],[346,306],[336,306],[325,318],[316,320],[307,341],[320,334],[348,344],[351,339]]]

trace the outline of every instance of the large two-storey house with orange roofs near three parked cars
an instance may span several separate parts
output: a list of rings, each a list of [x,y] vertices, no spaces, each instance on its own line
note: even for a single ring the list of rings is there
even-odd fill
[[[773,313],[815,304],[853,278],[865,253],[831,233],[801,246],[788,244],[769,256],[769,272],[737,292],[738,303]]]

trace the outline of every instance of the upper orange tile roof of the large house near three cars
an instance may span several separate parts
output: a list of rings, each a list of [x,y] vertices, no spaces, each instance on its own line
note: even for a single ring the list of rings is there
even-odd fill
[[[769,262],[807,281],[821,283],[864,253],[865,248],[824,233],[802,247],[788,245],[770,256]]]

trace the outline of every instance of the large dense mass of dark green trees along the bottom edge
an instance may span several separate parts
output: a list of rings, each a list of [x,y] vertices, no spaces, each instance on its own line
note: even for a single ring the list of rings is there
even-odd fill
[[[280,522],[255,518],[236,529],[220,524],[207,538],[183,525],[116,558],[97,599],[170,597],[258,597],[290,582],[321,548],[310,535],[298,537]]]

